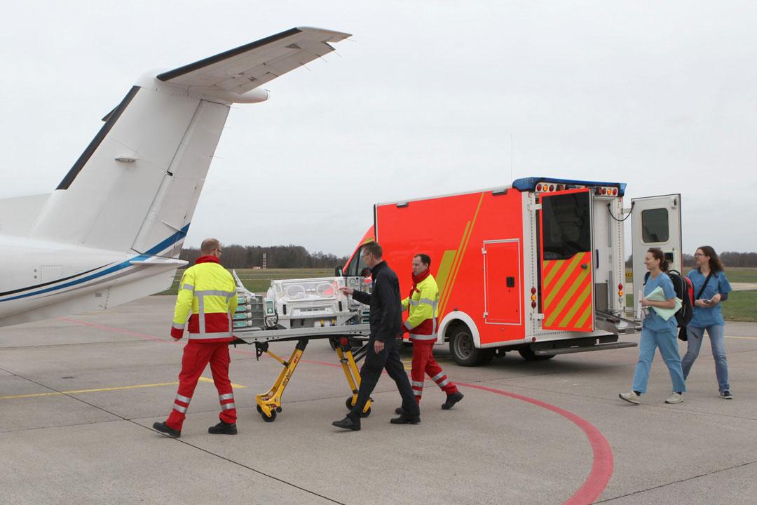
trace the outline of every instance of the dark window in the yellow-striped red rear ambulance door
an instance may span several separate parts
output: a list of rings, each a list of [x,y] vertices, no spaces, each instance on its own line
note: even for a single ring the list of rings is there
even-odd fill
[[[591,214],[587,192],[541,199],[543,260],[566,260],[591,251]]]

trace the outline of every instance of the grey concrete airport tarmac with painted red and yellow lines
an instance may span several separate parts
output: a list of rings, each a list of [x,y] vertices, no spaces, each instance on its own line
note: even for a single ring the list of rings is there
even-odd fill
[[[384,376],[360,432],[331,426],[350,391],[327,341],[308,345],[275,422],[254,396],[281,366],[240,346],[238,435],[207,433],[219,411],[207,369],[175,440],[151,429],[176,394],[172,310],[149,297],[0,329],[0,503],[755,503],[755,324],[726,325],[734,400],[718,397],[707,344],[682,404],[664,403],[658,355],[639,406],[618,399],[637,348],[464,368],[438,347],[463,401],[441,410],[427,379],[421,424],[391,425],[399,395]]]

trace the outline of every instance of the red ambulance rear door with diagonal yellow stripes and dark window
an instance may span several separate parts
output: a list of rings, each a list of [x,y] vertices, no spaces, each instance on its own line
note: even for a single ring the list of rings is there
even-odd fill
[[[594,329],[592,199],[587,188],[540,195],[539,300],[543,329]]]

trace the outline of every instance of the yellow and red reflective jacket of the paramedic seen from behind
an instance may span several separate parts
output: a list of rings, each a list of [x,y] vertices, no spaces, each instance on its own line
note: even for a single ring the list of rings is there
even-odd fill
[[[182,338],[189,320],[189,339],[199,342],[232,340],[232,313],[236,310],[236,285],[217,257],[201,256],[179,283],[171,336]]]

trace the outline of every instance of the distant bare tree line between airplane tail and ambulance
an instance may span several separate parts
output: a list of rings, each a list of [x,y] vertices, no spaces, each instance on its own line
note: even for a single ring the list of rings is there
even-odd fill
[[[266,254],[266,268],[334,268],[347,263],[347,257],[336,256],[321,251],[310,253],[301,245],[224,245],[221,260],[226,268],[263,267]],[[200,257],[199,248],[182,249],[179,258],[190,265]]]

